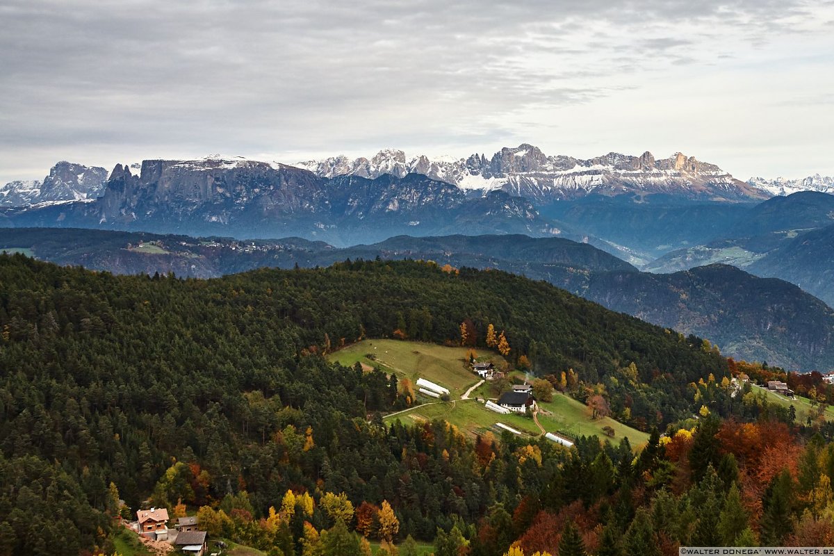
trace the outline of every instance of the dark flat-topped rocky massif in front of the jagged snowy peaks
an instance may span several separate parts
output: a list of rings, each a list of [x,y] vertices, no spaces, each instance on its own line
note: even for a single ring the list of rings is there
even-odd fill
[[[322,178],[301,168],[243,158],[117,164],[92,203],[7,210],[14,226],[76,226],[190,235],[297,235],[336,245],[398,233],[528,233],[558,229],[530,201],[503,191],[470,197],[453,184],[410,173]]]

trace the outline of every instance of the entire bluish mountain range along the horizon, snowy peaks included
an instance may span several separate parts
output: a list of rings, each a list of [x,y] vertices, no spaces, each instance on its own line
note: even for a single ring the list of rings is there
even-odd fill
[[[529,144],[491,158],[406,158],[386,150],[299,166],[146,160],[119,164],[106,176],[103,168],[62,162],[43,182],[0,188],[0,227],[298,237],[337,248],[397,235],[557,237],[652,272],[729,263],[791,280],[834,304],[834,286],[824,279],[834,275],[825,230],[834,225],[834,196],[771,197],[796,188],[824,191],[829,178],[745,183],[681,153],[585,160],[548,156]],[[545,270],[526,263],[520,272],[560,283],[558,273]]]

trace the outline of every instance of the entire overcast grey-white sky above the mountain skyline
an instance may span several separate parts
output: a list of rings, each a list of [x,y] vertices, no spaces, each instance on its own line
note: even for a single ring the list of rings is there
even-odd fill
[[[0,183],[380,148],[834,174],[834,1],[2,0]]]

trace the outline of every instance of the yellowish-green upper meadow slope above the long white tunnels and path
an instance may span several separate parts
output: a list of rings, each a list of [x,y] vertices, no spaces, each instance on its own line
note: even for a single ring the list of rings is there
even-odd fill
[[[374,358],[366,357],[373,353]],[[497,357],[497,356],[496,356]],[[403,342],[400,340],[363,340],[331,353],[331,361],[343,365],[379,367],[386,373],[409,378],[425,378],[449,388],[451,397],[460,398],[466,389],[480,378],[469,368],[465,348],[448,348],[434,343]]]

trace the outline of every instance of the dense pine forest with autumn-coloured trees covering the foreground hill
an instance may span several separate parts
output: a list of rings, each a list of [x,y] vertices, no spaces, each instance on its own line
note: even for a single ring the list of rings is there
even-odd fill
[[[510,360],[568,373],[649,443],[386,426],[413,403],[397,379],[324,358],[361,338],[484,347],[490,323]],[[414,539],[436,556],[834,543],[831,426],[730,380],[778,369],[547,283],[382,261],[128,277],[0,255],[0,328],[0,555],[112,554],[120,498],[199,508],[209,534],[273,556],[367,538],[403,556]]]

